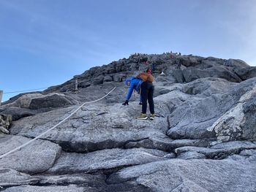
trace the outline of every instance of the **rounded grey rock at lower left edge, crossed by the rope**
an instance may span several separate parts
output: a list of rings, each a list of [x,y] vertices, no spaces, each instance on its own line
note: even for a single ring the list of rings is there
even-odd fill
[[[29,140],[21,136],[0,135],[0,155],[29,142]],[[29,147],[21,148],[15,153],[0,158],[0,167],[30,174],[45,172],[53,166],[60,152],[61,147],[59,145],[49,141],[36,140]]]

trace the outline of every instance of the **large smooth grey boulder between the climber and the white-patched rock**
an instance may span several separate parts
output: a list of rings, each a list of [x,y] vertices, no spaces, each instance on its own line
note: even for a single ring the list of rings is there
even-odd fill
[[[200,82],[197,84],[197,88],[204,89],[203,84],[205,83],[206,81]],[[217,85],[218,84],[219,83],[217,83]],[[208,88],[208,93],[214,93],[214,91],[217,90],[215,88],[215,83],[208,85],[213,85],[214,88],[212,91],[211,87]],[[216,134],[214,127],[221,126],[221,124],[218,123],[220,121],[219,117],[233,109],[242,96],[250,95],[250,93],[253,92],[252,90],[254,90],[254,86],[255,79],[250,79],[242,84],[224,86],[223,88],[227,88],[225,92],[209,94],[210,96],[202,96],[202,94],[200,94],[200,96],[194,96],[189,100],[184,101],[176,108],[176,110],[173,110],[171,115],[168,116],[170,122],[170,129],[167,131],[168,136],[172,139],[218,137],[219,134]],[[220,90],[223,88],[220,88]],[[198,93],[201,93],[201,91],[199,90]],[[227,115],[225,115],[225,117],[227,117],[225,119],[228,119]],[[235,120],[237,120],[237,118]],[[223,120],[222,122],[224,123]],[[224,128],[225,126],[221,127]],[[232,129],[232,126],[229,127]],[[220,129],[222,130],[223,128]],[[225,134],[225,132],[223,134]],[[235,134],[234,138],[239,139],[241,138],[241,135]]]

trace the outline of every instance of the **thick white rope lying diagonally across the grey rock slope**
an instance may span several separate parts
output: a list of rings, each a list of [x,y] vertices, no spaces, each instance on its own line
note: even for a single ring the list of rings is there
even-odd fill
[[[94,100],[94,101],[88,101],[88,102],[85,102],[83,103],[80,107],[78,107],[78,109],[76,109],[74,112],[72,112],[69,116],[67,116],[67,118],[64,118],[64,120],[61,120],[61,122],[59,122],[56,126],[53,126],[52,128],[48,129],[47,131],[43,132],[42,134],[39,134],[39,136],[37,137],[34,137],[34,139],[31,139],[29,142],[26,142],[24,143],[23,145],[20,145],[19,147],[16,147],[15,149],[13,150],[10,150],[9,152],[7,153],[4,153],[3,155],[0,155],[0,158],[4,158],[6,155],[9,155],[10,153],[13,153],[15,152],[16,150],[19,150],[20,148],[22,147],[25,147],[26,145],[29,145],[31,142],[34,142],[36,139],[39,139],[40,137],[42,137],[43,135],[47,134],[49,131],[53,130],[53,128],[56,128],[57,126],[59,126],[61,123],[63,123],[65,120],[67,120],[68,118],[70,118],[72,115],[75,114],[75,112],[77,112],[78,110],[80,110],[81,107],[83,107],[85,104],[91,104],[91,103],[94,103],[94,102],[97,102],[101,99],[104,99],[106,96],[108,96],[112,91],[114,91],[116,87],[114,87],[110,92],[108,92],[105,96],[102,96],[102,98],[99,98],[97,100]]]

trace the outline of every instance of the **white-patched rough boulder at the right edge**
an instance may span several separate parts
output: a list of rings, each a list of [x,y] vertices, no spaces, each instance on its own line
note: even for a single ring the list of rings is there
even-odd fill
[[[256,139],[256,87],[246,92],[238,104],[222,115],[208,131],[215,131],[217,139],[230,141],[236,139]]]

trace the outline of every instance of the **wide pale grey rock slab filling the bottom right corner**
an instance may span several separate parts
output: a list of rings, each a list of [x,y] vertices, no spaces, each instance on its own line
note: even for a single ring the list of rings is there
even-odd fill
[[[158,161],[123,169],[108,183],[133,180],[153,191],[255,191],[256,166],[244,161]]]

